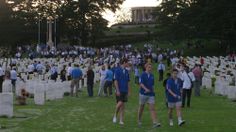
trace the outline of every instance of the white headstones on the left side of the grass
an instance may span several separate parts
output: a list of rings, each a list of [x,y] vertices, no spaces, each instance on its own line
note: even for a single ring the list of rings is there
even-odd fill
[[[49,61],[46,59],[38,59],[37,61],[45,62]],[[0,60],[1,62],[1,60]],[[64,65],[68,65],[69,62],[65,62],[64,60],[60,60],[60,62],[57,62],[56,59],[50,59],[50,63],[58,64],[58,68],[62,70],[62,67]],[[75,63],[78,64],[79,60],[75,60]],[[17,69],[24,69],[27,67],[26,64],[32,63],[31,60],[25,59],[19,61],[17,64]],[[3,68],[6,68],[7,66],[6,62],[2,59],[2,64]],[[10,64],[10,63],[8,63]],[[73,63],[72,63],[73,65]],[[94,64],[94,73],[95,73],[95,79],[94,82],[98,82],[100,80],[100,74],[99,70],[101,69],[98,64]],[[80,80],[79,83],[79,88],[82,90],[82,88],[87,87],[87,77],[86,71],[87,71],[88,65],[85,65],[85,68],[82,69],[83,72],[83,79],[84,83],[82,85],[82,80]],[[27,77],[29,76],[29,78]],[[16,90],[15,90],[15,96],[20,96],[21,95],[21,90],[25,89],[28,93],[34,95],[34,103],[36,105],[44,105],[45,101],[47,100],[56,100],[56,99],[62,99],[65,93],[70,93],[71,92],[71,82],[70,81],[64,81],[61,82],[60,77],[58,76],[57,81],[52,81],[50,80],[50,75],[49,73],[45,73],[44,75],[38,75],[37,73],[33,75],[28,75],[28,74],[21,74],[21,77],[26,80],[23,82],[20,78],[17,79],[16,81]],[[12,93],[12,86],[11,85],[5,85],[5,81],[3,82],[3,92],[0,93],[0,116],[7,116],[7,117],[12,117],[13,116],[13,98],[14,98],[14,93]],[[74,88],[75,92],[75,88]]]

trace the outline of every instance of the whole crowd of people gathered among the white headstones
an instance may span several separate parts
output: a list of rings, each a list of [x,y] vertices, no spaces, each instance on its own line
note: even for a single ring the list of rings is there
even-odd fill
[[[181,108],[185,107],[186,100],[187,107],[191,106],[192,89],[194,89],[195,96],[200,96],[201,78],[203,76],[201,63],[204,63],[204,60],[199,60],[199,64],[196,64],[195,67],[188,67],[185,58],[181,57],[181,52],[155,48],[150,44],[144,45],[144,49],[126,45],[101,49],[77,47],[76,50],[76,54],[73,55],[67,53],[63,55],[62,52],[57,55],[59,58],[63,57],[65,61],[75,60],[75,58],[79,60],[79,62],[72,61],[74,65],[72,63],[64,65],[60,71],[58,65],[50,61],[33,61],[33,63],[28,64],[27,70],[24,72],[27,72],[29,76],[34,73],[38,73],[39,75],[49,73],[51,80],[57,81],[58,76],[60,76],[61,81],[71,81],[71,96],[78,96],[80,90],[79,83],[80,80],[83,80],[83,83],[87,83],[88,96],[93,97],[95,82],[94,64],[97,63],[101,66],[99,71],[98,96],[112,96],[115,92],[117,104],[113,116],[113,123],[116,123],[119,118],[120,125],[124,125],[125,103],[128,101],[131,91],[130,74],[134,75],[134,82],[140,87],[139,126],[142,125],[142,113],[145,104],[149,105],[153,127],[161,126],[155,110],[154,83],[156,82],[163,82],[163,87],[165,88],[170,126],[174,125],[172,115],[174,108],[176,108],[177,112],[178,125],[182,126],[185,123],[182,119]],[[8,67],[6,69],[7,71],[0,65],[0,92],[3,89],[4,75],[5,78],[10,78],[14,91],[17,76],[20,75],[17,65],[18,61],[21,61],[20,58],[20,56],[16,56],[16,59],[11,59],[11,67]],[[87,66],[87,71],[84,73],[81,68],[86,66],[83,65],[86,58],[89,58],[87,62],[89,65]],[[153,70],[155,63],[157,67],[156,70]],[[154,72],[158,73],[159,79],[154,78]],[[166,78],[165,74],[167,75]],[[85,77],[87,78],[86,82]],[[74,88],[76,88],[75,91]]]

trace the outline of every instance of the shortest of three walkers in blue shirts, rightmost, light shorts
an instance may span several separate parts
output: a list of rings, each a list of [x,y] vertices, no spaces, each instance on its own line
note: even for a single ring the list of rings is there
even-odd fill
[[[181,84],[177,77],[178,70],[173,69],[172,77],[167,81],[167,100],[168,100],[168,115],[169,115],[169,125],[173,126],[173,110],[176,108],[177,116],[178,116],[178,125],[182,126],[185,121],[182,120],[182,112],[181,112]]]

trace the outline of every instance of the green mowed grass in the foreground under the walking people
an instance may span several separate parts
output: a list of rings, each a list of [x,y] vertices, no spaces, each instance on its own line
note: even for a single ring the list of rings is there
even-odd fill
[[[154,69],[156,69],[154,67]],[[158,80],[157,72],[155,79]],[[131,77],[132,93],[126,104],[125,125],[112,123],[115,108],[115,97],[87,97],[86,89],[79,97],[65,97],[61,100],[48,101],[44,106],[36,106],[32,99],[28,105],[14,105],[15,117],[0,118],[0,124],[5,129],[0,132],[235,132],[236,103],[226,97],[212,95],[210,91],[202,90],[201,97],[192,98],[192,107],[183,109],[186,124],[169,127],[165,95],[162,82],[155,82],[156,111],[162,124],[160,128],[152,128],[148,107],[143,115],[143,125],[137,126],[138,90]],[[97,93],[98,86],[95,88]],[[97,95],[97,94],[96,94]]]

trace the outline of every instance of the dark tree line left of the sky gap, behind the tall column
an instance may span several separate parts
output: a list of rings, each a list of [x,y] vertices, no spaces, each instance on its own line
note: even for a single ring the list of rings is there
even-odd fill
[[[102,16],[115,12],[124,0],[4,0],[0,1],[0,40],[9,45],[37,43],[38,23],[45,39],[46,22],[57,20],[58,38],[69,43],[95,45],[104,36],[108,21]],[[8,33],[6,35],[5,33]]]

